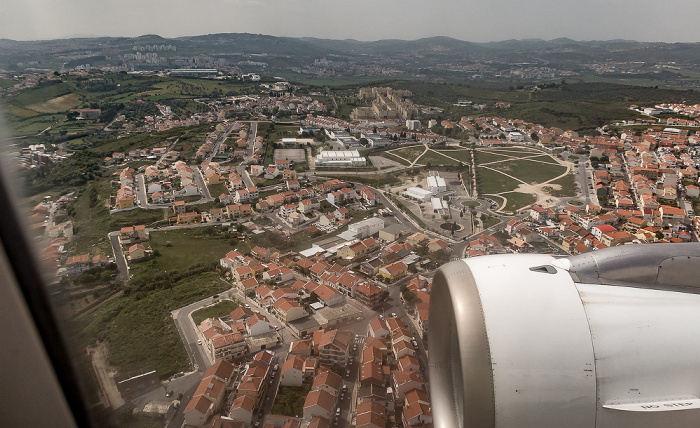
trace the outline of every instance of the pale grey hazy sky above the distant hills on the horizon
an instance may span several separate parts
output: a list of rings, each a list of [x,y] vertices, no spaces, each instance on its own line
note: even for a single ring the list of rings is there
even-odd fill
[[[260,33],[330,39],[700,41],[700,0],[0,0],[0,38]]]

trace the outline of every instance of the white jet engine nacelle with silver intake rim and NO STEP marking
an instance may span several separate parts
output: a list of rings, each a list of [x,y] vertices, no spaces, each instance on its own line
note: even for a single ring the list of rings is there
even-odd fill
[[[700,244],[448,263],[428,336],[436,428],[700,426]]]

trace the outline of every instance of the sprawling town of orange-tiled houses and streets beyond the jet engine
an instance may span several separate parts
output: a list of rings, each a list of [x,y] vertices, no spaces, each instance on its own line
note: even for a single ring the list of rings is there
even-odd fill
[[[289,88],[268,84],[273,95],[225,97],[218,110],[189,118],[158,103],[160,114],[122,126],[126,136],[211,122],[187,147],[170,136],[100,155],[108,194],[102,200],[88,190],[90,203],[121,221],[109,223],[101,244],[76,242],[84,232],[74,230],[70,213],[82,193],[33,208],[46,243],[41,257],[66,294],[94,292],[83,283],[143,281],[170,251],[209,252],[213,261],[196,269],[212,274],[221,291],[166,316],[191,370],[158,373],[144,364],[105,376],[115,403],[138,403],[137,413],[191,427],[429,427],[429,303],[442,264],[698,240],[696,106],[632,106],[649,119],[603,125],[591,137],[477,115],[485,107],[467,100],[459,107],[475,115],[438,123],[423,117],[410,91],[381,87],[363,88],[358,98],[371,106],[345,120]],[[273,121],[272,110],[293,121]],[[254,120],[232,119],[232,111]],[[654,118],[659,112],[687,119]],[[48,160],[42,150],[23,150],[25,167],[71,157]],[[419,163],[426,155],[433,157]],[[478,168],[516,157],[559,168],[544,184],[572,176],[575,192],[506,209],[502,193],[517,192],[484,191]],[[401,177],[367,179],[380,174]],[[144,212],[147,221],[121,220]],[[211,248],[172,250],[178,243],[165,234],[189,231]],[[139,287],[127,290],[141,297]],[[121,292],[67,306],[84,316]]]

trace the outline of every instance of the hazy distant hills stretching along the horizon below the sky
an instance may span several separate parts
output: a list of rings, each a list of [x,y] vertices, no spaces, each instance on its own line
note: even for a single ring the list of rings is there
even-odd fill
[[[154,51],[164,59],[151,61],[150,65],[128,57],[136,52],[135,47],[149,45],[173,45],[177,49]],[[153,68],[154,63],[161,69],[179,68],[183,64],[221,65],[248,72],[322,78],[376,75],[459,80],[474,75],[498,78],[505,75],[538,79],[540,75],[558,78],[590,70],[632,75],[664,73],[673,78],[679,73],[674,71],[676,68],[697,70],[700,44],[568,38],[475,43],[450,37],[363,42],[248,33],[170,39],[152,34],[47,41],[0,39],[0,69],[5,71],[65,68],[82,60],[92,66],[121,64],[130,69]],[[532,70],[514,71],[532,67],[553,71],[539,74]]]

